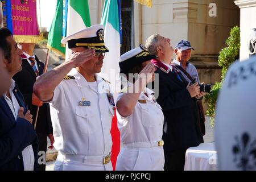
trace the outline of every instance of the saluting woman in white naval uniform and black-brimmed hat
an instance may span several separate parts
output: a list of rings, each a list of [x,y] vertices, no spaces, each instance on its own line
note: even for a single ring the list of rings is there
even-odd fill
[[[120,72],[129,81],[117,98],[118,128],[123,143],[117,170],[163,170],[164,115],[154,92],[146,87],[154,81],[155,67],[150,60],[155,58],[143,46],[121,56]],[[129,73],[139,73],[138,79],[129,78]]]

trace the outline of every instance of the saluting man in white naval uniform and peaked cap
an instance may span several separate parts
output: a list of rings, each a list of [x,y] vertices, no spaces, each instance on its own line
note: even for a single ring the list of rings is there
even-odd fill
[[[114,100],[101,72],[105,52],[104,26],[94,25],[61,43],[73,51],[68,61],[40,76],[34,92],[51,102],[55,170],[112,170],[110,127]],[[66,76],[67,75],[67,76]]]

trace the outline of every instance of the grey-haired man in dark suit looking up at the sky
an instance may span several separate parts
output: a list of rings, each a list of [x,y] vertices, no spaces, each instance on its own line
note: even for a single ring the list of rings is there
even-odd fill
[[[151,35],[146,47],[151,54],[158,56],[158,60],[152,62],[157,67],[155,73],[159,74],[159,88],[154,88],[155,92],[159,89],[157,102],[165,117],[164,170],[183,170],[187,148],[203,143],[196,98],[202,97],[204,93],[200,93],[197,83],[189,86],[179,70],[171,65],[174,49],[170,39],[159,34]]]

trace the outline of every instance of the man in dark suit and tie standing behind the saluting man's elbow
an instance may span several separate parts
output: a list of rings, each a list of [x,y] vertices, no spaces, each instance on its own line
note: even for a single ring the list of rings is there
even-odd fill
[[[36,122],[36,133],[39,138],[39,152],[44,151],[46,154],[47,151],[47,136],[51,140],[51,146],[49,148],[53,148],[53,135],[52,135],[52,121],[49,110],[49,104],[46,103],[35,103],[37,100],[36,96],[33,94],[33,86],[36,81],[36,77],[43,74],[44,64],[42,61],[38,59],[38,57],[34,53],[35,43],[19,43],[22,46],[22,71],[16,73],[13,79],[16,84],[19,85],[19,89],[22,92],[25,101],[28,104],[28,109],[31,111],[33,115],[33,125],[35,125],[36,120],[36,110],[38,106],[40,106],[38,119]],[[42,157],[46,157],[46,155],[42,155],[39,153],[39,159]],[[45,161],[46,159],[44,159]],[[38,165],[38,169],[40,171],[46,170],[46,164],[40,163]]]

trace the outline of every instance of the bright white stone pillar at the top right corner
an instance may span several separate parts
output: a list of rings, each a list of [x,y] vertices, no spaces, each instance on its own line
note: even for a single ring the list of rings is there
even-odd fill
[[[240,7],[240,60],[243,61],[249,58],[247,41],[251,30],[256,28],[256,0],[239,0],[235,1],[234,3]]]

